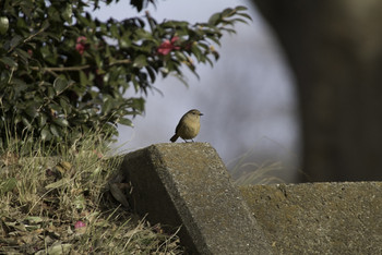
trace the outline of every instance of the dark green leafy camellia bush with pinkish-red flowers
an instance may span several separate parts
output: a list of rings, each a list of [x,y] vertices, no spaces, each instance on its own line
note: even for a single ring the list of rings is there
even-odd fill
[[[107,0],[106,3],[118,1]],[[139,11],[154,0],[131,0]],[[85,12],[99,0],[0,1],[0,138],[9,134],[72,144],[88,131],[110,138],[132,125],[156,77],[196,74],[193,59],[212,64],[222,32],[250,19],[238,7],[208,22],[128,17],[100,22]],[[198,75],[198,74],[196,74]],[[64,138],[63,138],[64,137]]]

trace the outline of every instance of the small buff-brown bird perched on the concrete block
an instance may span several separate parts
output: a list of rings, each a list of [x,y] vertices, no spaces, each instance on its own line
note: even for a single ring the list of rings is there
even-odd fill
[[[175,130],[175,135],[170,138],[174,143],[178,137],[184,139],[192,139],[199,134],[201,129],[200,117],[203,116],[199,110],[192,109],[186,112],[186,114],[180,119],[177,129]]]

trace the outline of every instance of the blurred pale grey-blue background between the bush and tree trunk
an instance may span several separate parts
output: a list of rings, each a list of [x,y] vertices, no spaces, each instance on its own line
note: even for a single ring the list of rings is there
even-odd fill
[[[216,49],[220,59],[211,68],[196,65],[198,80],[188,74],[189,87],[175,77],[158,80],[146,98],[146,114],[134,129],[119,127],[119,150],[130,151],[155,143],[168,143],[181,116],[198,108],[204,116],[196,142],[212,144],[228,168],[238,159],[250,162],[251,171],[268,168],[268,174],[284,182],[296,181],[299,169],[299,123],[294,77],[285,64],[272,32],[249,1],[167,0],[148,11],[158,22],[207,21],[228,7],[246,5],[253,22],[237,24],[237,35],[224,35]],[[122,20],[141,15],[128,1],[102,7],[93,13],[99,20]],[[186,68],[184,68],[186,70]]]

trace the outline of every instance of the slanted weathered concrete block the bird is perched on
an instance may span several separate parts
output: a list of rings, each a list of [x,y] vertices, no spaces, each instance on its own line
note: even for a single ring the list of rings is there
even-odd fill
[[[206,143],[157,144],[128,154],[132,204],[152,222],[182,226],[190,253],[272,254],[216,150]]]

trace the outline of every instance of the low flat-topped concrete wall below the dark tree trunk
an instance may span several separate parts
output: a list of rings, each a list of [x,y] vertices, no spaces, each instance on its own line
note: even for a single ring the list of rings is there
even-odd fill
[[[382,182],[240,190],[277,254],[382,254]]]

